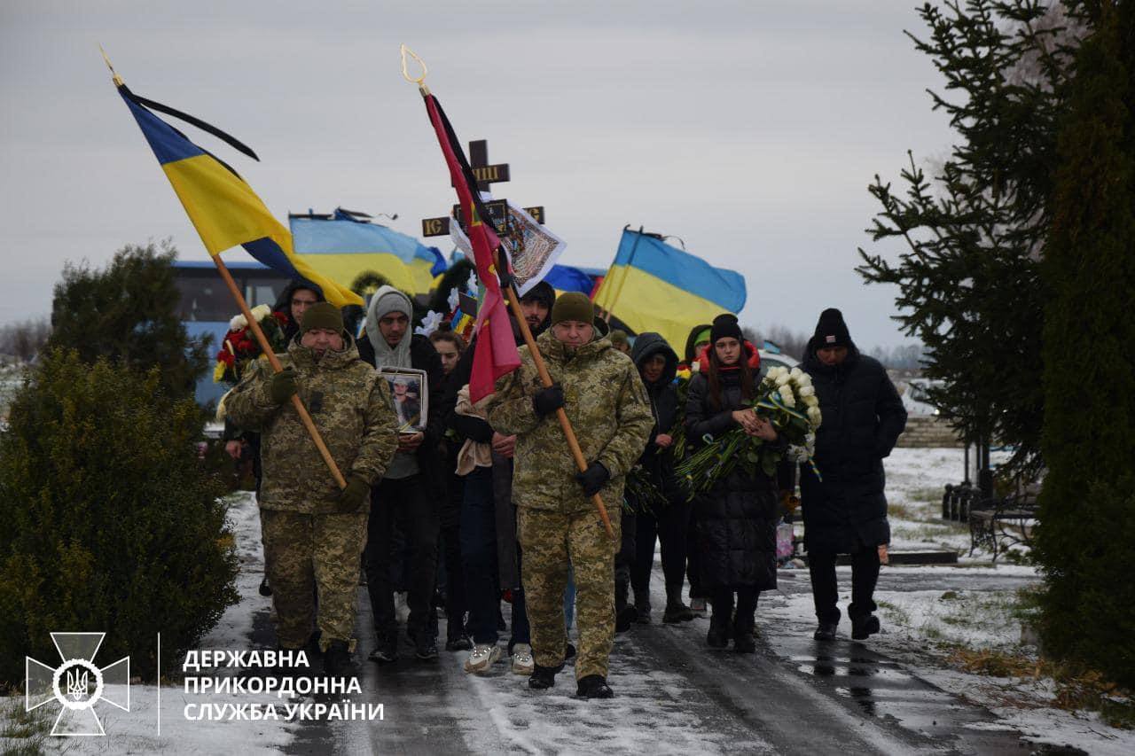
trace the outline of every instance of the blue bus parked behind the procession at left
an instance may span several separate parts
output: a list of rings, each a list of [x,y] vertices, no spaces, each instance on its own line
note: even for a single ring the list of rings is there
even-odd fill
[[[258,304],[276,303],[276,297],[288,285],[288,278],[255,260],[234,260],[225,263],[241,287],[250,308]],[[221,280],[217,267],[207,260],[175,260],[174,274],[180,292],[178,314],[190,336],[212,334],[210,356],[220,350],[221,339],[228,333],[228,321],[239,309],[233,301],[228,286]],[[199,404],[216,404],[228,390],[226,384],[215,384],[212,369],[197,380]]]

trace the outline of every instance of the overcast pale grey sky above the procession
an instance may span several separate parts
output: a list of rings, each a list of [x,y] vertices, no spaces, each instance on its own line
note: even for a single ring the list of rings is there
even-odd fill
[[[163,237],[208,259],[99,43],[133,91],[251,145],[260,163],[190,132],[281,221],[342,204],[418,235],[454,198],[404,42],[459,136],[511,163],[497,196],[546,207],[563,262],[605,267],[641,224],[740,270],[745,324],[810,333],[839,306],[861,345],[905,343],[896,291],[854,267],[874,174],[951,141],[925,93],[942,78],[902,34],[922,35],[915,5],[5,0],[0,324],[50,312],[67,260]]]

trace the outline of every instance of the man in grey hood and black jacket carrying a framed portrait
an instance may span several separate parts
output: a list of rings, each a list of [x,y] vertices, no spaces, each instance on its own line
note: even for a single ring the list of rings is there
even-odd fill
[[[398,451],[382,479],[373,488],[367,527],[367,589],[370,593],[378,645],[371,661],[397,658],[398,628],[394,613],[392,534],[395,521],[411,549],[406,604],[406,633],[418,658],[437,658],[434,618],[434,586],[437,578],[438,509],[440,489],[437,444],[444,434],[440,403],[444,373],[442,360],[429,339],[411,335],[413,309],[407,297],[393,286],[382,286],[367,308],[367,330],[359,339],[359,356],[376,368],[423,370],[428,403],[421,430],[398,435]]]

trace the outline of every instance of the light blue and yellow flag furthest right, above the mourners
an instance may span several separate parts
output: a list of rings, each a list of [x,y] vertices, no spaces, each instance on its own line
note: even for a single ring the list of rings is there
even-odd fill
[[[745,278],[649,234],[624,229],[595,303],[636,333],[684,344],[690,329],[745,306]]]

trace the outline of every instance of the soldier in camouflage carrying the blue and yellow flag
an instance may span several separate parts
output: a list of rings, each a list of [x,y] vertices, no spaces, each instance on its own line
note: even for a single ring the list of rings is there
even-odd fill
[[[254,363],[226,406],[237,426],[261,432],[260,519],[279,645],[303,648],[314,622],[327,672],[338,675],[348,670],[354,652],[370,485],[394,455],[397,425],[386,381],[360,361],[334,305],[312,305],[279,359],[284,371],[278,373],[267,362]],[[292,406],[295,393],[346,478],[346,488],[335,484]]]

